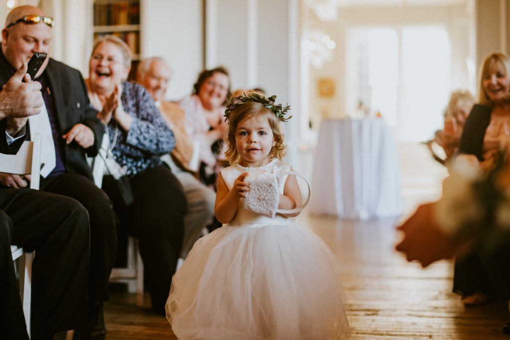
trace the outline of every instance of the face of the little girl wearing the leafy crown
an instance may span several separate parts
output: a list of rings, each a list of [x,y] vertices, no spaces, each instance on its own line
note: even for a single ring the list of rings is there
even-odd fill
[[[244,118],[236,128],[236,149],[242,166],[256,167],[269,162],[269,153],[276,144],[273,130],[264,114]]]

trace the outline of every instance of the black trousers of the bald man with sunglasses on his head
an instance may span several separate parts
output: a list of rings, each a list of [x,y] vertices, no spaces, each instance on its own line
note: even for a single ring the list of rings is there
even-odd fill
[[[90,217],[91,303],[107,301],[108,281],[117,249],[116,215],[106,193],[85,176],[64,173],[41,180],[41,190],[58,193],[79,201]]]

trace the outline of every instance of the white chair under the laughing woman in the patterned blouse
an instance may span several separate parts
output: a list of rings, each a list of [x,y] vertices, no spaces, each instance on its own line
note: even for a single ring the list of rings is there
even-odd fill
[[[108,132],[103,136],[99,154],[89,159],[92,176],[97,187],[103,184],[103,176],[107,173],[105,159],[107,157],[110,137]],[[127,267],[113,268],[110,282],[125,282],[130,293],[136,292],[136,305],[143,306],[143,262],[138,252],[138,240],[129,236],[127,239]]]

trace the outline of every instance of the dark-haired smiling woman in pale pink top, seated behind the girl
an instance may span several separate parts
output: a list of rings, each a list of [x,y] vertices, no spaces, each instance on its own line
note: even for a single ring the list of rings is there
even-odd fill
[[[193,85],[191,95],[179,101],[186,113],[186,130],[198,153],[196,170],[206,185],[216,185],[218,159],[224,159],[223,136],[226,132],[225,104],[230,93],[230,79],[224,67],[203,70]]]

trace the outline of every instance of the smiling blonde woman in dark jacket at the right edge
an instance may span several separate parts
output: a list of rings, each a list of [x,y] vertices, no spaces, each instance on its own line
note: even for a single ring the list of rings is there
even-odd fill
[[[482,63],[478,84],[479,104],[466,120],[459,151],[476,156],[481,171],[490,172],[501,145],[510,140],[510,58],[501,53],[489,55]],[[490,257],[468,254],[455,262],[453,291],[463,296],[466,305],[484,304],[496,297],[510,299],[510,273],[501,270],[508,261],[507,250]]]

